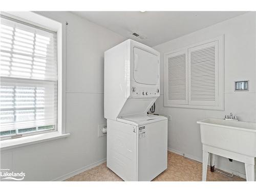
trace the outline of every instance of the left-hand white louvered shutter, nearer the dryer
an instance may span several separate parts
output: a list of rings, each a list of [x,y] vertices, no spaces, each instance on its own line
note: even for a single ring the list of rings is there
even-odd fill
[[[165,55],[167,69],[166,102],[187,104],[187,54],[179,51]]]

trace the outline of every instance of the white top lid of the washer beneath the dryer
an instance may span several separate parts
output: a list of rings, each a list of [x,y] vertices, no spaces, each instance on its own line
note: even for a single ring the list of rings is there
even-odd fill
[[[154,123],[162,120],[167,120],[167,118],[160,115],[150,115],[150,114],[117,118],[117,121],[121,121],[127,124],[136,125],[136,126]]]

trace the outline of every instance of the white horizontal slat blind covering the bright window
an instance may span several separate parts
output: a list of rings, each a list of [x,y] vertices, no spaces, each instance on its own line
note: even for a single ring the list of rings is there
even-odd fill
[[[55,130],[56,32],[1,16],[1,136]]]

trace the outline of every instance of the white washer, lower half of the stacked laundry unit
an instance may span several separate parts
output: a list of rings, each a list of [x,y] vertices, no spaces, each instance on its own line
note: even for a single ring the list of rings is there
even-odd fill
[[[156,115],[107,120],[106,165],[124,181],[151,181],[167,168],[167,120]]]

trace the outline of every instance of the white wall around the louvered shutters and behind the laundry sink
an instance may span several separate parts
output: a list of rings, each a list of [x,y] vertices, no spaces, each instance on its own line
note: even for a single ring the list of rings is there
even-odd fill
[[[225,111],[168,108],[163,106],[163,53],[225,35]],[[186,156],[202,159],[202,144],[197,120],[224,118],[232,112],[241,121],[256,121],[255,113],[255,12],[170,40],[154,48],[161,52],[161,94],[156,113],[172,116],[168,124],[168,148]],[[249,92],[234,92],[234,80],[249,80]],[[217,167],[244,176],[244,165],[218,158]]]

